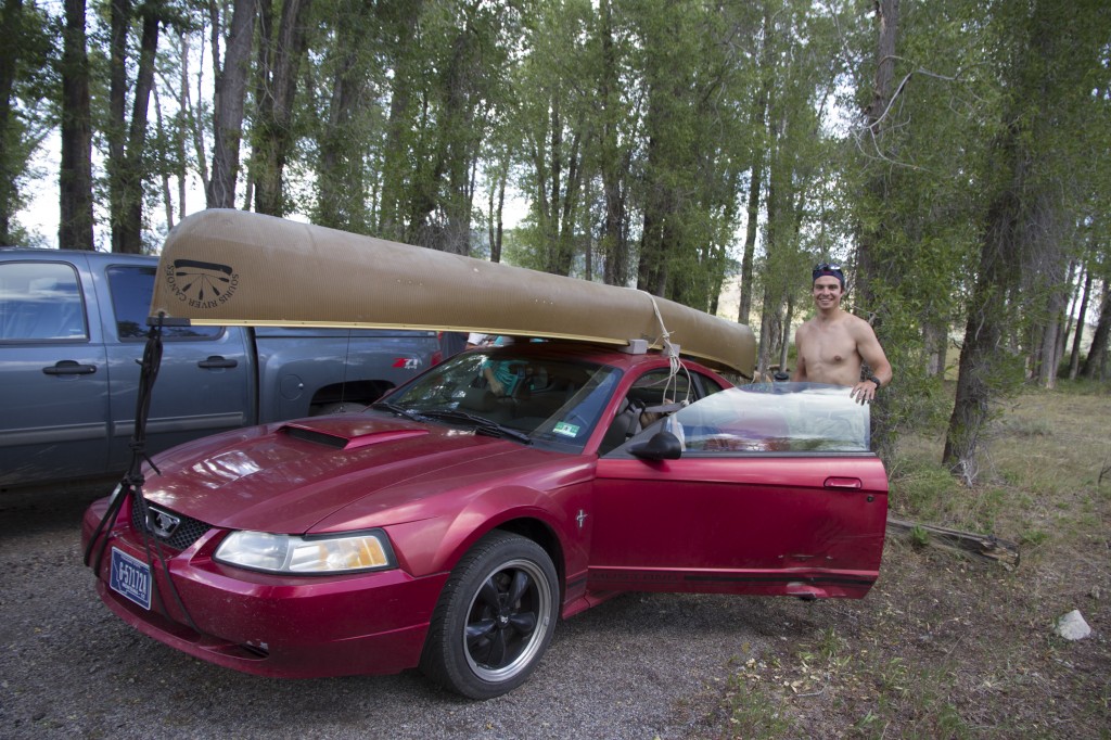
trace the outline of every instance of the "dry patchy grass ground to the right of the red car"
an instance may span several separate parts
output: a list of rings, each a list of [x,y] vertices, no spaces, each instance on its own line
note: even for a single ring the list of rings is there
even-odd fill
[[[1023,393],[973,488],[941,466],[942,429],[903,437],[891,516],[1018,542],[1019,568],[889,538],[868,598],[774,601],[769,623],[798,627],[738,660],[692,737],[1111,739],[1109,417],[1107,386]],[[1053,633],[1072,609],[1093,638]]]

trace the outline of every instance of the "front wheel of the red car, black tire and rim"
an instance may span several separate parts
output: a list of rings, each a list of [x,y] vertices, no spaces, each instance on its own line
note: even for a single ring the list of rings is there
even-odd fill
[[[471,699],[519,687],[551,641],[559,587],[532,540],[494,531],[459,561],[432,613],[421,670]]]

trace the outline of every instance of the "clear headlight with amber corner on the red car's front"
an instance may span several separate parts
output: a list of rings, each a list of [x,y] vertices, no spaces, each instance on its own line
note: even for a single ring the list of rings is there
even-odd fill
[[[390,541],[380,530],[308,537],[237,531],[224,538],[213,557],[229,566],[290,574],[396,567]]]

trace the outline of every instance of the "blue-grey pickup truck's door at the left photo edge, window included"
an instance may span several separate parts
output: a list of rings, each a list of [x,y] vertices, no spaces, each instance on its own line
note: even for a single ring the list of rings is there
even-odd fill
[[[0,262],[0,486],[106,472],[108,368],[84,257]]]

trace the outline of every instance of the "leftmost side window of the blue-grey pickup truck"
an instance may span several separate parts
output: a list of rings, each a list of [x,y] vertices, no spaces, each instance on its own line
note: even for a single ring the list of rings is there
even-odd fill
[[[72,264],[0,264],[0,341],[88,339],[84,301]]]

